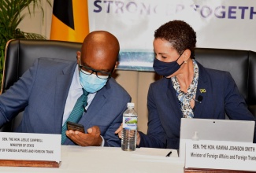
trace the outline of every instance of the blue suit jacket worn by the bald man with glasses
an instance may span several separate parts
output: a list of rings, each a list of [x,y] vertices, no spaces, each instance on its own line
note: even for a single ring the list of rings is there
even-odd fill
[[[24,109],[17,132],[61,134],[65,101],[76,61],[39,58],[17,83],[0,96],[0,127]],[[98,126],[105,145],[120,146],[114,131],[122,123],[122,113],[131,101],[129,94],[109,79],[99,90],[80,119],[85,130]],[[69,138],[65,145],[75,145]]]

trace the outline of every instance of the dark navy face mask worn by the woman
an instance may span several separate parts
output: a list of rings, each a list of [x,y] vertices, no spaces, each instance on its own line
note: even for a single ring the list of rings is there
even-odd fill
[[[180,54],[180,57],[182,54],[183,53]],[[154,71],[158,73],[158,75],[164,75],[164,76],[173,75],[173,73],[179,70],[180,66],[184,64],[184,62],[182,64],[177,63],[180,57],[178,57],[178,59],[173,62],[163,62],[158,60],[157,58],[154,58],[154,64],[153,64]]]

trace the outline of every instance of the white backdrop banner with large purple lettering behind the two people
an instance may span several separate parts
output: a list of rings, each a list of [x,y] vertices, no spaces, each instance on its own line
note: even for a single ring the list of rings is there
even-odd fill
[[[119,69],[153,71],[154,31],[169,20],[190,24],[197,47],[256,51],[256,1],[90,0],[88,14],[90,31],[119,39]]]

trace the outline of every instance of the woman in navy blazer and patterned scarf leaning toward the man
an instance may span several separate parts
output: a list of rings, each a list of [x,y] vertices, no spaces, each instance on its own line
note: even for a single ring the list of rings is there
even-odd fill
[[[180,119],[254,120],[229,72],[195,61],[196,34],[173,20],[154,33],[154,70],[164,77],[150,84],[148,131],[137,134],[140,147],[179,149]]]

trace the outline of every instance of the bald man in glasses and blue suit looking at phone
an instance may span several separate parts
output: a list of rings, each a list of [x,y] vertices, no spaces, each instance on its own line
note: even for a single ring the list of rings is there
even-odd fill
[[[17,132],[61,134],[64,129],[64,145],[121,146],[114,131],[131,97],[111,78],[119,49],[114,35],[94,31],[76,53],[77,61],[39,58],[0,96],[0,127],[24,109]],[[77,123],[87,133],[66,131],[62,126],[83,93],[87,105]]]

